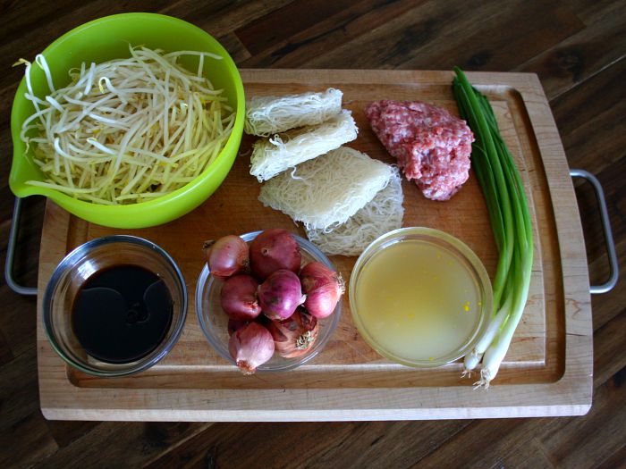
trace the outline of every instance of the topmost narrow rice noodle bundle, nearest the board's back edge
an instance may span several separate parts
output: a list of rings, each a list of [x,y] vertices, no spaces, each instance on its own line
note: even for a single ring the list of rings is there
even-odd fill
[[[244,130],[251,135],[269,137],[295,127],[322,123],[341,112],[342,96],[334,88],[323,93],[255,96],[246,103]]]

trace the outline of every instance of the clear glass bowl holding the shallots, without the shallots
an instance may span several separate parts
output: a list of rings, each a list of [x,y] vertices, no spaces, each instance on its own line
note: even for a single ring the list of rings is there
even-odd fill
[[[257,238],[261,232],[262,231],[253,231],[242,234],[241,239],[250,244],[250,241]],[[334,265],[328,260],[328,257],[317,249],[317,247],[313,246],[307,239],[302,239],[300,236],[293,233],[292,236],[300,246],[302,266],[311,261],[318,261],[322,264],[326,264],[328,268],[336,270]],[[210,274],[208,266],[205,264],[202,272],[200,272],[198,286],[196,288],[196,314],[200,328],[204,332],[211,347],[213,347],[224,360],[235,365],[235,361],[228,351],[228,315],[224,313],[222,306],[220,306],[220,291],[222,290],[223,283],[223,281]],[[258,366],[257,372],[286,372],[297,368],[300,364],[309,362],[309,360],[317,356],[326,346],[328,339],[333,335],[334,329],[339,323],[341,314],[342,302],[340,300],[334,308],[333,314],[324,319],[317,320],[319,324],[317,339],[313,347],[311,347],[306,354],[293,358],[283,358],[275,353],[268,362]]]

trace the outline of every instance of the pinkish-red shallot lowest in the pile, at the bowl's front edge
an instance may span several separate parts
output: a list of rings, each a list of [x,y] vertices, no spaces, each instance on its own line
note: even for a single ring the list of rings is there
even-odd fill
[[[272,334],[258,322],[250,322],[233,333],[228,351],[243,374],[252,374],[274,355]]]

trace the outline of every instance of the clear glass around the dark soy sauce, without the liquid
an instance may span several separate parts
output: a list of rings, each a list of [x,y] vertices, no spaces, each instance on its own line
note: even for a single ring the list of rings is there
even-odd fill
[[[165,337],[148,355],[127,363],[109,363],[90,356],[74,332],[74,301],[97,272],[119,265],[140,266],[165,282],[173,302],[173,315]],[[129,310],[130,312],[130,310]],[[156,364],[179,339],[187,314],[187,289],[173,258],[156,244],[134,236],[92,239],[66,255],[53,272],[43,299],[44,330],[55,352],[68,364],[97,376],[139,373]]]

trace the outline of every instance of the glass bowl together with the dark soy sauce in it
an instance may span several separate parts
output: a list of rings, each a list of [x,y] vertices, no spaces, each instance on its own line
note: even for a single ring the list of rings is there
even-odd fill
[[[182,272],[163,248],[106,236],[56,267],[43,299],[44,330],[55,352],[84,373],[139,373],[173,348],[187,301]]]

